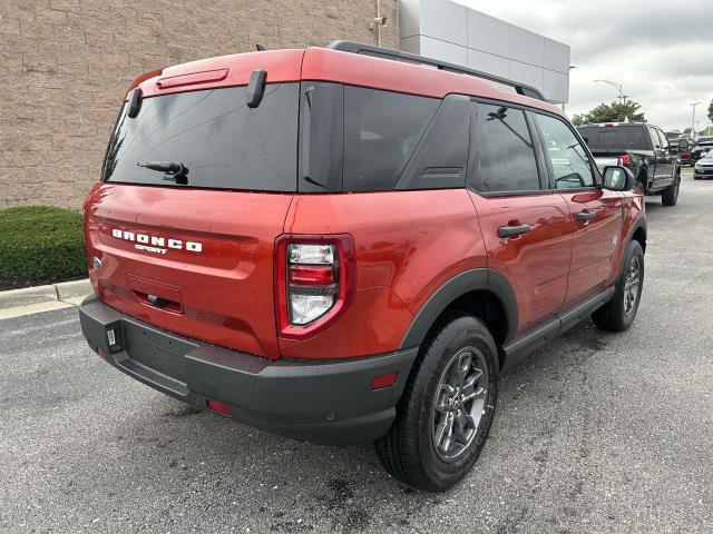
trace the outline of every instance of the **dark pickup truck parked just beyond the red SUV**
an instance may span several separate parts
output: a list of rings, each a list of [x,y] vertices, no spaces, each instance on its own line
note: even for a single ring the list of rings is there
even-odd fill
[[[628,168],[645,195],[661,195],[664,206],[678,200],[681,160],[663,130],[646,122],[602,122],[578,126],[599,169],[609,165]]]

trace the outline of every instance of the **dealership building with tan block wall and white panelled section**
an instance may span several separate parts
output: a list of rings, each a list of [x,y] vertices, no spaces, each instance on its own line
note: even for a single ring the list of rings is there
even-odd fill
[[[569,47],[448,0],[0,3],[0,209],[79,208],[137,76],[256,44],[381,43],[568,97]]]

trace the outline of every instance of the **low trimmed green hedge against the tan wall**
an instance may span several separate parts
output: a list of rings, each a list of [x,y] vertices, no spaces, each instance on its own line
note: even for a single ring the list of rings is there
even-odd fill
[[[0,210],[0,288],[87,274],[81,215],[49,206]]]

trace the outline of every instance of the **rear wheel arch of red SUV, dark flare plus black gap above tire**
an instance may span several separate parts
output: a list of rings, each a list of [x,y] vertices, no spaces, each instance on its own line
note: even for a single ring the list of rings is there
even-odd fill
[[[456,275],[430,296],[411,322],[401,348],[420,346],[451,310],[468,312],[481,319],[499,347],[515,336],[518,312],[512,287],[500,273],[477,268]]]

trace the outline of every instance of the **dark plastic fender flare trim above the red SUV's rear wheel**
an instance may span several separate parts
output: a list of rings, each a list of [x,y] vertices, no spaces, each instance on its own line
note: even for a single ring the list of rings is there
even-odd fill
[[[511,339],[518,324],[515,291],[500,273],[488,268],[476,268],[456,275],[429,297],[411,322],[400,348],[420,346],[436,319],[453,300],[477,290],[488,291],[502,303],[508,324],[506,342]]]

